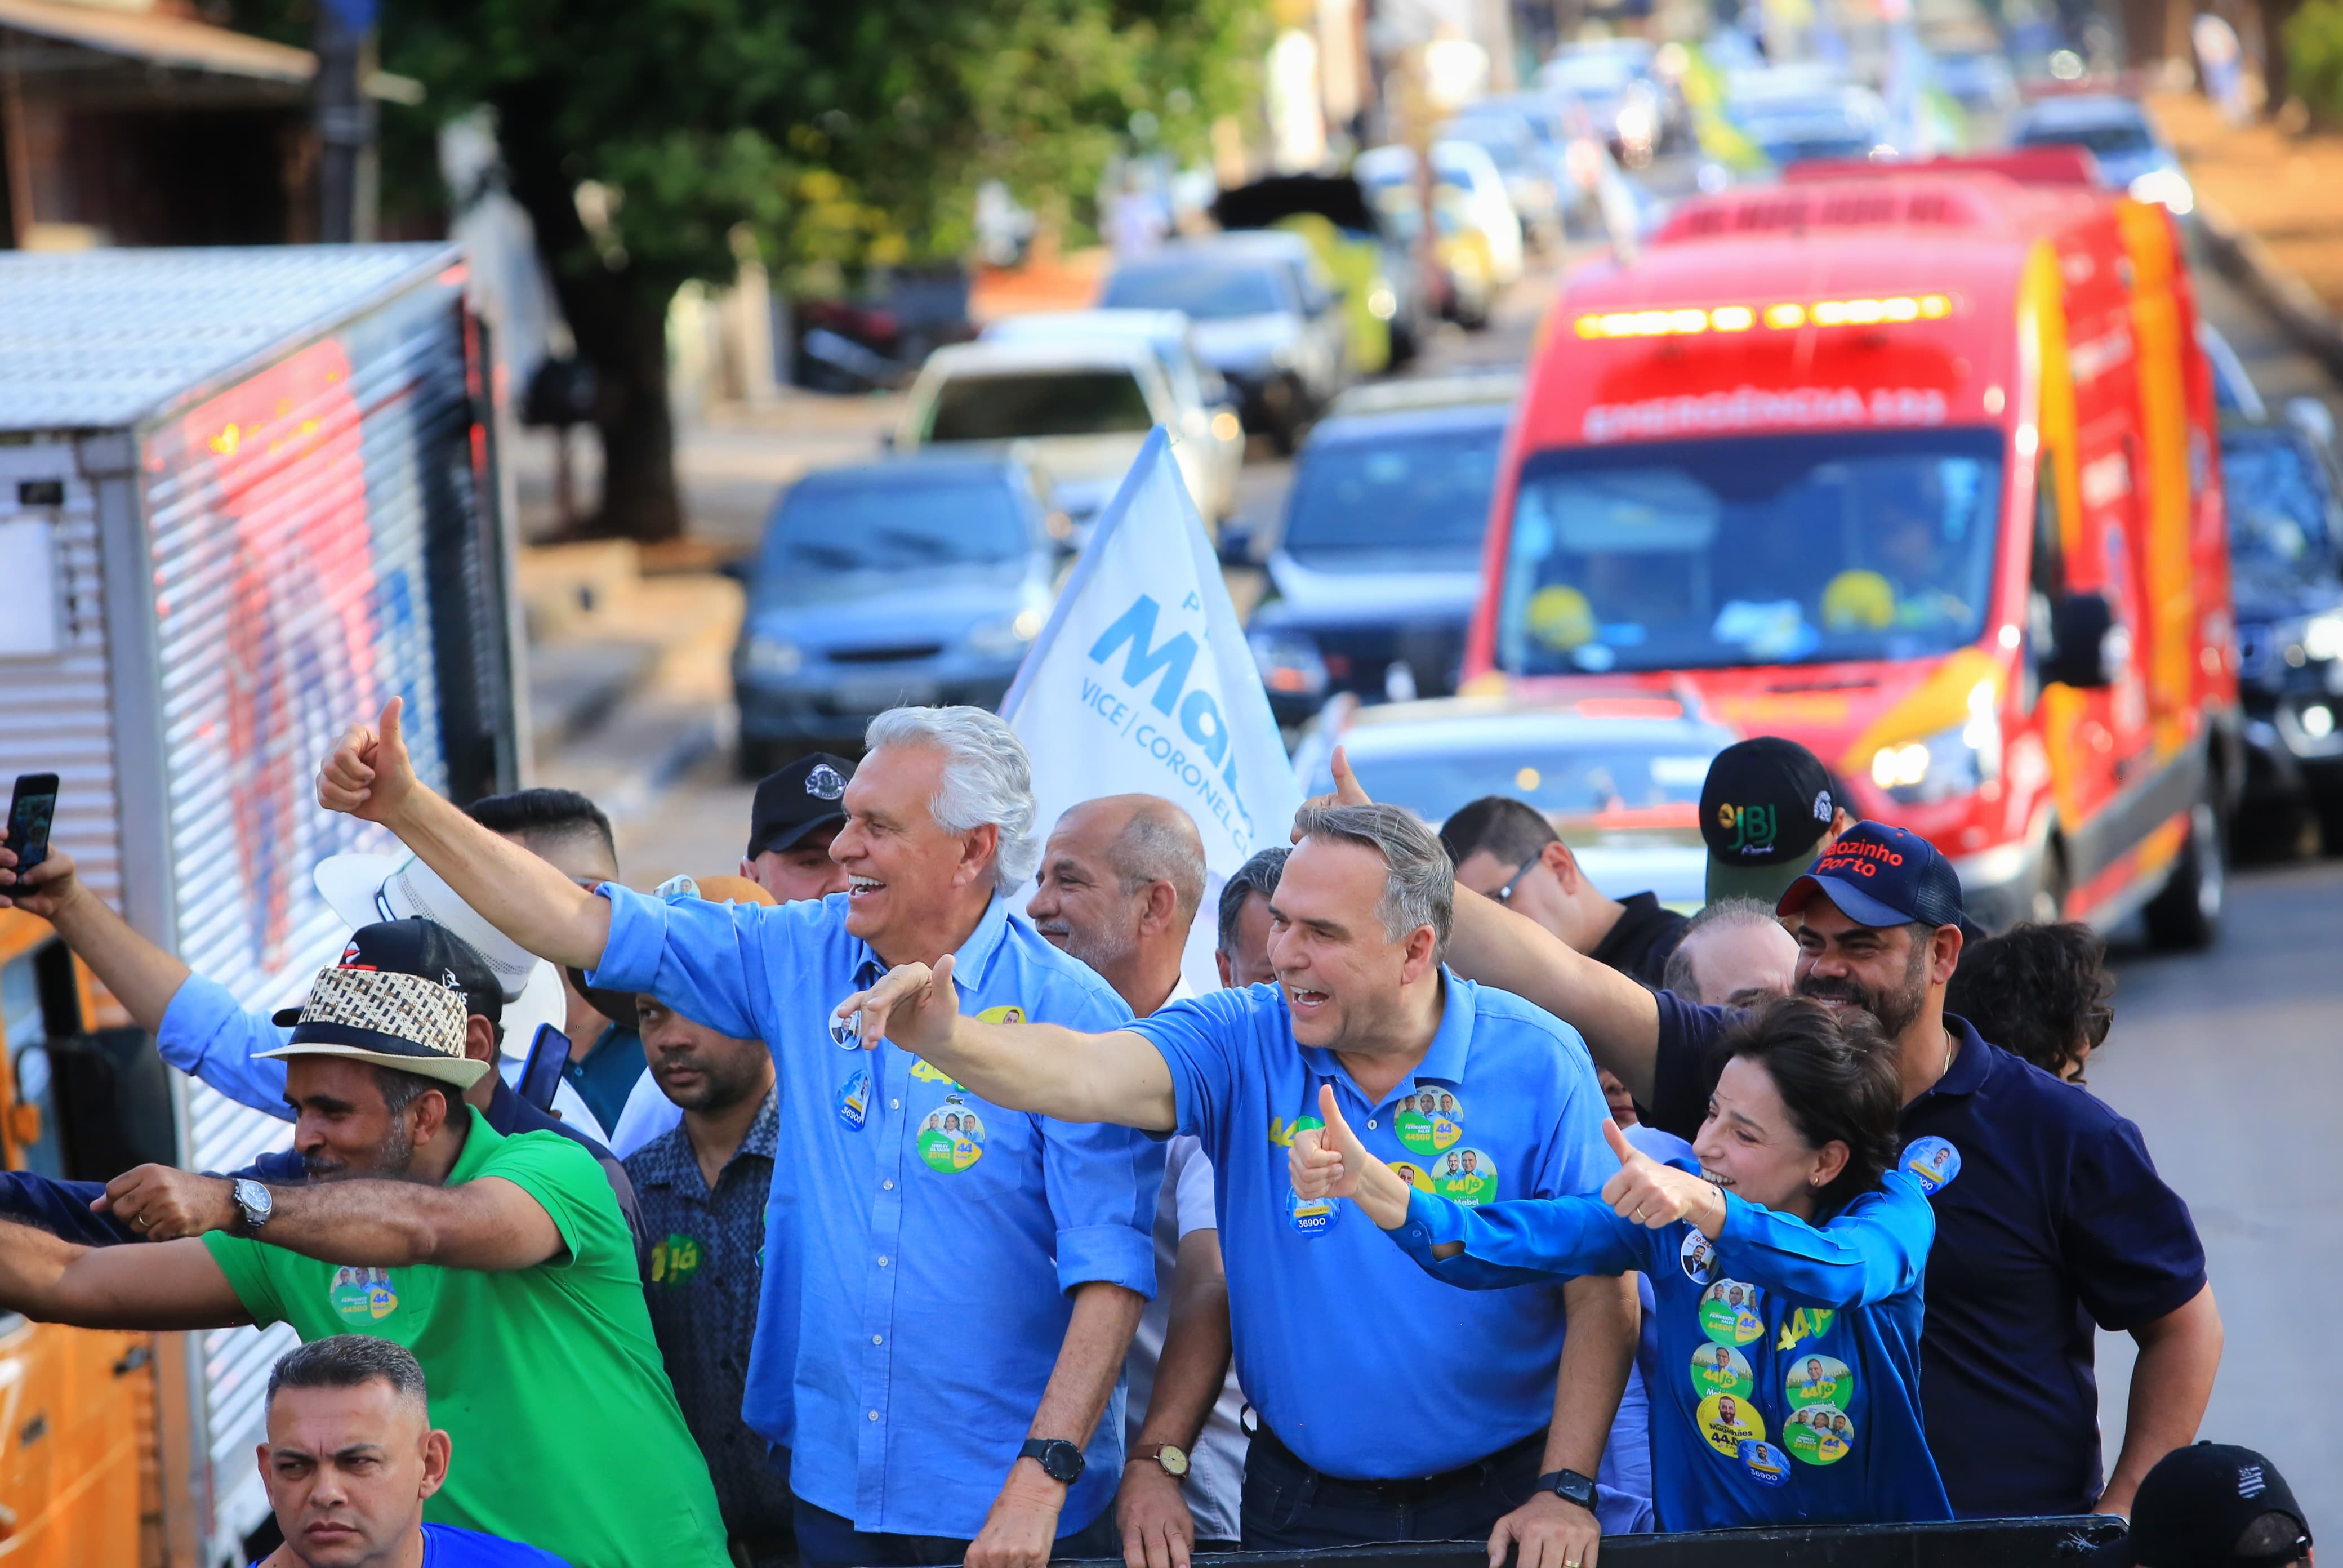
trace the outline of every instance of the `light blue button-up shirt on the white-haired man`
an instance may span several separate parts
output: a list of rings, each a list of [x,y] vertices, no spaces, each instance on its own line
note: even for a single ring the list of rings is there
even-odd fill
[[[593,984],[773,1048],[780,1139],[743,1416],[792,1451],[806,1502],[860,1530],[975,1538],[1057,1366],[1066,1291],[1155,1294],[1162,1144],[1000,1109],[890,1043],[841,1050],[832,1010],[883,973],[846,933],[843,893],[778,907],[602,895]],[[954,961],[965,1013],[1089,1034],[1129,1020],[998,898]],[[1122,1477],[1120,1383],[1085,1458],[1066,1535]]]

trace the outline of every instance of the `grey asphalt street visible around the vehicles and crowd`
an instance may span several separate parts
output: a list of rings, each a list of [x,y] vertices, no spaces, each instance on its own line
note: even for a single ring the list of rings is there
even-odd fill
[[[1553,274],[1525,279],[1488,333],[1446,328],[1413,375],[1521,363]],[[2324,373],[2219,277],[2200,274],[2202,309],[2263,391],[2327,396]],[[1291,464],[1256,443],[1239,516],[1272,537]],[[1232,588],[1244,591],[1244,581]],[[628,825],[628,881],[726,872],[740,853],[750,788],[710,759],[658,809]],[[1631,888],[1614,888],[1624,893]],[[2116,933],[2120,991],[2092,1092],[2146,1132],[2158,1167],[2198,1216],[2228,1352],[2205,1437],[2266,1451],[2291,1479],[2313,1528],[2343,1521],[2343,1399],[2327,1385],[2324,1301],[2343,1301],[2343,1181],[2327,1151],[2343,1113],[2343,863],[2240,870],[2219,947],[2149,954]],[[2123,1439],[2127,1338],[2102,1336],[2106,1455]]]

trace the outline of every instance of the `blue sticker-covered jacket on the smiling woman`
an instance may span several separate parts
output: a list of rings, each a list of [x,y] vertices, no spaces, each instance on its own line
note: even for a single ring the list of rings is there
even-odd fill
[[[1727,1195],[1715,1242],[1682,1221],[1647,1230],[1598,1198],[1464,1209],[1422,1191],[1392,1233],[1467,1289],[1645,1270],[1661,1530],[1952,1519],[1919,1409],[1933,1238],[1928,1198],[1900,1170],[1823,1226]],[[1464,1252],[1436,1261],[1441,1242]]]

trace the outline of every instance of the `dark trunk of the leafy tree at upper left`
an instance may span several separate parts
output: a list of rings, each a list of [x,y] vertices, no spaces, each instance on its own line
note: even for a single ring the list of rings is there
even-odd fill
[[[544,145],[541,105],[499,103],[499,138],[513,199],[537,225],[537,251],[553,277],[553,293],[595,368],[600,391],[593,424],[602,438],[602,506],[581,518],[586,539],[654,544],[684,532],[684,502],[675,488],[675,415],[668,408],[668,300],[675,286],[609,267],[576,209],[576,180],[562,171],[560,148]]]

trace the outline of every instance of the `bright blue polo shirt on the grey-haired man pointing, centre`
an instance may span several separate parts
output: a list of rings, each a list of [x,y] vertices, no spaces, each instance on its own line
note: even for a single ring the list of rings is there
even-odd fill
[[[1460,1202],[1591,1193],[1619,1170],[1577,1029],[1441,970],[1441,1024],[1415,1073],[1368,1099],[1331,1050],[1293,1041],[1272,984],[1211,991],[1125,1024],[1172,1069],[1179,1130],[1218,1191],[1237,1380],[1307,1465],[1347,1479],[1427,1477],[1553,1418],[1560,1284],[1457,1294],[1345,1200],[1293,1198],[1293,1132],[1333,1083],[1366,1146]],[[1371,1303],[1373,1310],[1361,1310]]]

